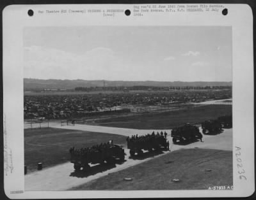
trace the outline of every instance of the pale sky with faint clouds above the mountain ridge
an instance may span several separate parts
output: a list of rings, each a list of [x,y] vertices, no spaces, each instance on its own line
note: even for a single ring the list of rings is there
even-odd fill
[[[232,29],[27,27],[24,29],[24,77],[231,82]]]

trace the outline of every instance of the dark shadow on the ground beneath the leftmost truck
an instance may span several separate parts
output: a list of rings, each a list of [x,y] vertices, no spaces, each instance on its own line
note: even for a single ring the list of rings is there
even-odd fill
[[[125,161],[116,160],[113,164],[97,164],[87,170],[73,171],[72,173],[70,173],[69,176],[75,176],[77,178],[86,178],[88,176],[96,175],[97,173],[107,171],[108,169],[116,168],[116,164],[122,164],[124,162]]]

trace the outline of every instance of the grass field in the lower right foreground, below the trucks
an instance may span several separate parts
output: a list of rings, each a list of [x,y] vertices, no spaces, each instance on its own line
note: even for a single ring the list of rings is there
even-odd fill
[[[232,152],[194,148],[163,155],[70,190],[207,190],[231,185]]]

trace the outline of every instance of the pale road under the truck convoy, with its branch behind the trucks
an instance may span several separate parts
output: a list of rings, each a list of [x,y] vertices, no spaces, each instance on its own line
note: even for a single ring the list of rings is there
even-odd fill
[[[153,130],[138,130],[138,129],[124,129],[124,128],[116,128],[116,127],[102,127],[97,125],[65,125],[61,126],[58,123],[50,123],[50,127],[63,128],[63,129],[72,129],[72,130],[80,130],[80,131],[93,131],[93,132],[106,132],[111,134],[120,134],[124,136],[131,136],[132,134],[147,134],[152,132]],[[155,132],[157,130],[154,130]],[[220,149],[220,150],[232,150],[232,129],[224,129],[221,134],[216,136],[204,136],[203,142],[195,142],[189,145],[173,145],[172,138],[170,137],[170,129],[169,130],[158,130],[166,131],[168,133],[167,138],[170,141],[170,150],[179,150],[181,148],[212,148],[212,149]],[[201,130],[202,132],[202,130]],[[115,141],[114,141],[115,143]],[[106,176],[109,173],[114,173],[116,171],[120,171],[125,168],[129,168],[136,164],[140,164],[141,162],[148,161],[149,159],[153,159],[154,157],[159,157],[164,154],[168,154],[169,152],[164,152],[164,154],[154,155],[152,157],[147,157],[145,159],[131,159],[129,158],[129,150],[125,148],[125,162],[123,164],[116,164],[114,168],[109,168],[106,166],[95,165],[92,166],[93,171],[95,173],[84,174],[84,173],[76,173],[74,172],[73,164],[67,162],[65,164],[60,164],[58,166],[54,166],[52,168],[43,169],[42,171],[36,171],[35,173],[31,173],[25,176],[25,190],[68,190],[77,185],[81,185],[83,183],[90,182],[91,180],[95,180],[102,176]],[[125,178],[125,177],[124,177]]]

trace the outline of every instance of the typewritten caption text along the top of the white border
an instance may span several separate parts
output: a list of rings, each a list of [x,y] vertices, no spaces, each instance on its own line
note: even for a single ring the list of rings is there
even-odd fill
[[[225,8],[220,4],[148,4],[132,6],[131,15],[142,17],[147,13],[186,13],[186,12],[220,12]],[[117,14],[124,14],[125,9],[60,9],[60,10],[38,10],[40,15],[72,15],[72,14],[97,14],[103,17],[115,17]]]

